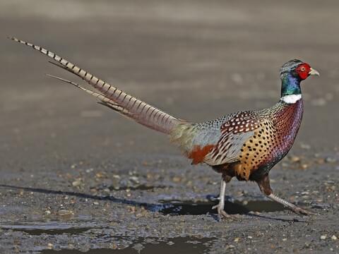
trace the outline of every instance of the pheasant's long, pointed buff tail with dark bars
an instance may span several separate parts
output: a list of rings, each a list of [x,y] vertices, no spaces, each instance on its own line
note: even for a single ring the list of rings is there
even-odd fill
[[[160,109],[157,109],[150,104],[147,104],[146,102],[143,102],[140,99],[137,99],[136,97],[133,97],[126,92],[117,89],[117,87],[109,85],[104,80],[95,77],[95,75],[84,71],[75,64],[61,58],[61,56],[58,56],[57,54],[54,54],[47,49],[36,46],[29,42],[24,42],[23,40],[18,40],[15,37],[10,37],[9,39],[25,44],[28,47],[32,47],[42,54],[49,56],[55,61],[51,63],[54,63],[55,65],[64,68],[66,71],[69,71],[87,81],[95,89],[102,92],[103,95],[97,92],[93,92],[91,90],[87,90],[80,85],[77,85],[76,83],[72,83],[69,80],[64,80],[62,78],[59,78],[59,80],[71,83],[72,85],[76,85],[82,90],[85,90],[85,92],[88,92],[91,95],[100,99],[102,104],[104,104],[105,106],[114,109],[115,111],[118,111],[124,116],[128,116],[134,121],[141,123],[143,126],[147,126],[148,128],[152,128],[153,130],[169,134],[174,126],[177,126],[178,123],[184,122],[181,119],[177,119],[176,117],[171,116],[164,111],[161,111]]]

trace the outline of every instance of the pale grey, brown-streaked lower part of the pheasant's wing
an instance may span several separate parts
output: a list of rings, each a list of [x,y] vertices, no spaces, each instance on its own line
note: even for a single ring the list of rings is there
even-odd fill
[[[222,135],[218,145],[206,155],[203,162],[210,166],[237,162],[242,146],[252,135],[254,135],[254,131],[239,134],[227,133],[227,135]]]

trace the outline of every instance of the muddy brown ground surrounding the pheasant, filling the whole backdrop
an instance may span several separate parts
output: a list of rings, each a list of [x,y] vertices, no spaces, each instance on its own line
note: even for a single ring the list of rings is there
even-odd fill
[[[0,2],[1,253],[339,253],[338,1]],[[270,107],[278,70],[303,59],[304,121],[270,173],[275,193],[227,186],[167,138],[73,87],[14,35],[189,121]],[[79,81],[80,82],[80,81]],[[58,251],[58,252],[57,252]]]

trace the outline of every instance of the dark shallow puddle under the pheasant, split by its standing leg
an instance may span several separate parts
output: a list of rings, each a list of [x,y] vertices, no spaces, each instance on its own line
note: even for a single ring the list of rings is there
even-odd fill
[[[216,213],[212,210],[215,202],[182,202],[179,200],[161,200],[164,208],[159,210],[162,214],[170,215],[199,215],[207,213]],[[286,210],[283,205],[270,200],[254,200],[248,202],[230,202],[225,201],[225,212],[227,214],[248,214],[249,212],[276,212]]]

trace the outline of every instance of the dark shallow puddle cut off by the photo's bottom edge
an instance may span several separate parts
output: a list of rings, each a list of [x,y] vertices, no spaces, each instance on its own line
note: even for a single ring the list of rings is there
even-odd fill
[[[81,252],[80,250],[42,250],[43,254],[107,254],[107,253],[119,253],[119,254],[203,254],[206,253],[208,247],[213,241],[213,238],[191,238],[191,237],[178,237],[170,238],[167,240],[159,240],[155,238],[143,238],[141,241],[133,243],[131,246],[122,250],[112,250],[108,248],[97,248],[88,250],[87,252]]]

